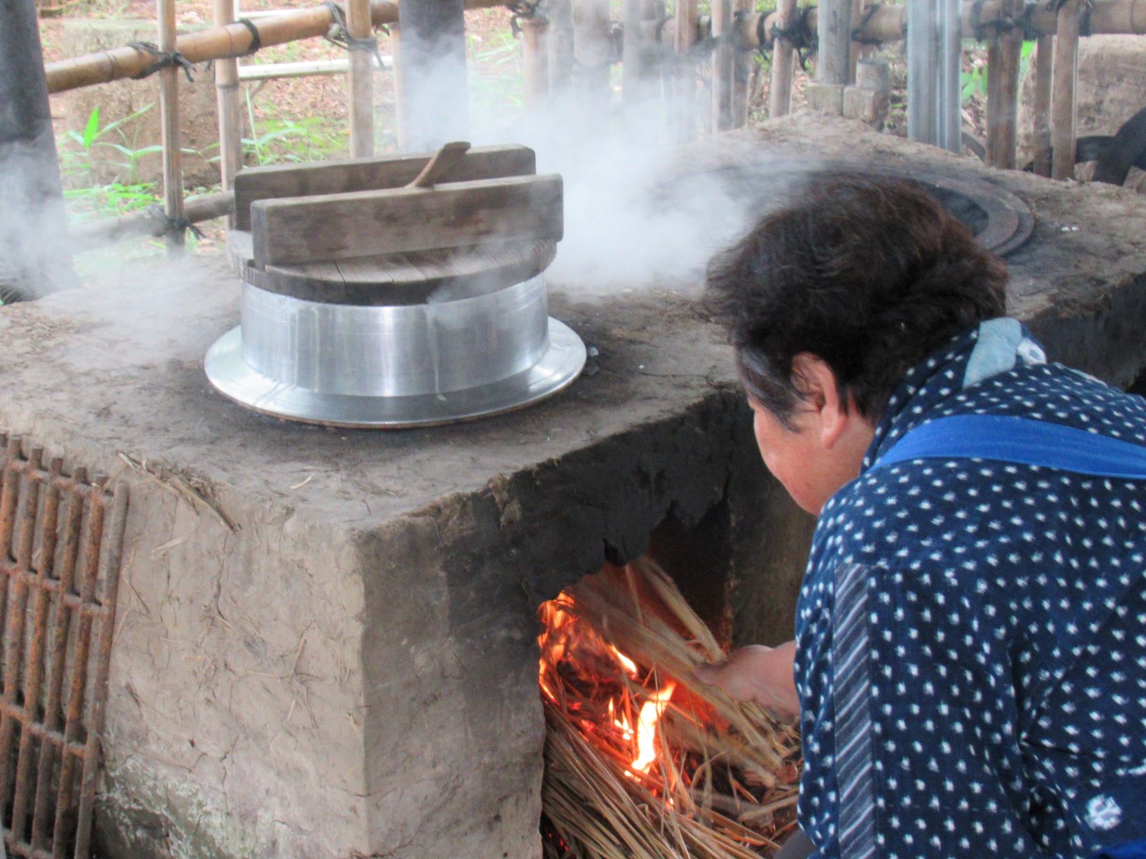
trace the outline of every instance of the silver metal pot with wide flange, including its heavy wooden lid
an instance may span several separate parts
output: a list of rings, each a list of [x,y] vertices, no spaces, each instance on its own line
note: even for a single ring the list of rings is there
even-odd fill
[[[424,426],[537,402],[584,365],[547,308],[562,180],[525,147],[244,171],[235,203],[241,324],[205,369],[243,405]]]

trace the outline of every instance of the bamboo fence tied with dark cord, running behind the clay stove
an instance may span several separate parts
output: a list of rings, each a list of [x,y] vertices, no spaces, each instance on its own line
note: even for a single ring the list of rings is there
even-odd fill
[[[432,0],[403,0],[432,2]],[[350,113],[352,155],[374,151],[372,85],[369,49],[372,30],[391,26],[391,65],[401,109],[399,3],[392,0],[347,0],[346,11],[327,3],[308,9],[284,10],[234,19],[230,0],[215,0],[215,26],[175,37],[166,22],[172,0],[158,0],[162,50],[178,52],[190,64],[214,61],[219,96],[220,151],[223,191],[229,190],[241,166],[240,73],[237,58],[261,48],[322,37],[343,26],[351,48]],[[704,120],[697,110],[696,70],[709,66],[712,101],[707,110],[711,132],[747,121],[746,57],[751,52],[774,55],[770,111],[790,110],[793,55],[818,40],[816,76],[833,86],[855,84],[855,62],[871,46],[897,42],[906,27],[905,5],[865,5],[865,0],[821,0],[819,7],[796,10],[793,0],[778,0],[771,10],[754,11],[746,0],[713,0],[712,15],[697,14],[697,0],[676,0],[673,15],[660,14],[664,3],[626,0],[626,18],[609,21],[606,0],[548,0],[547,3],[507,0],[465,0],[466,9],[510,6],[520,22],[526,102],[540,109],[550,97],[579,89],[586,103],[604,108],[610,98],[609,68],[625,61],[622,101],[626,104],[660,97],[661,79],[668,100],[674,136],[686,140]],[[858,15],[858,18],[856,16]],[[849,23],[850,22],[850,23]],[[963,38],[987,39],[988,163],[1015,166],[1019,58],[1023,38],[1036,38],[1036,171],[1065,179],[1074,175],[1075,82],[1077,45],[1082,34],[1146,34],[1146,0],[1067,0],[1055,10],[1022,0],[967,0],[960,15]],[[614,33],[622,32],[618,50]],[[1052,45],[1054,62],[1052,63]],[[154,53],[123,47],[45,65],[48,89],[62,93],[78,87],[148,74],[164,65]],[[343,65],[339,64],[339,69]],[[1052,72],[1053,68],[1053,72]],[[179,171],[178,68],[162,68],[160,104],[165,129],[164,206],[171,224],[186,224],[181,212],[182,181]],[[291,73],[323,73],[331,69],[299,69]],[[401,139],[401,129],[399,137]],[[1051,151],[1054,152],[1053,168]],[[204,211],[199,207],[199,211]],[[113,234],[109,227],[105,230]],[[172,229],[172,234],[178,229]],[[172,238],[178,246],[178,237]]]

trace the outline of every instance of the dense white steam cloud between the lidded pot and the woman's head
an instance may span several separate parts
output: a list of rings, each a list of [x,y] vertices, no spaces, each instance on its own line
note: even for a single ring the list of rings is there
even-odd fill
[[[603,115],[566,98],[473,136],[529,145],[539,172],[563,175],[565,238],[554,278],[598,290],[696,284],[761,200],[727,176],[690,171],[659,98],[623,115],[613,109]]]

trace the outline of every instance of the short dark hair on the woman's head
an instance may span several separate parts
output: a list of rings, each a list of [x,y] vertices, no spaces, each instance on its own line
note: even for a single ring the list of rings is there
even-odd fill
[[[878,420],[908,369],[1003,315],[1006,278],[921,184],[823,173],[713,258],[705,304],[749,396],[782,421],[802,399],[792,358],[803,352]]]

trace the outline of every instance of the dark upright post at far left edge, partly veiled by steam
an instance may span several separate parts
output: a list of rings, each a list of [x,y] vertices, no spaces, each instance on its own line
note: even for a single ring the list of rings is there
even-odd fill
[[[36,0],[0,0],[0,300],[78,285]]]

